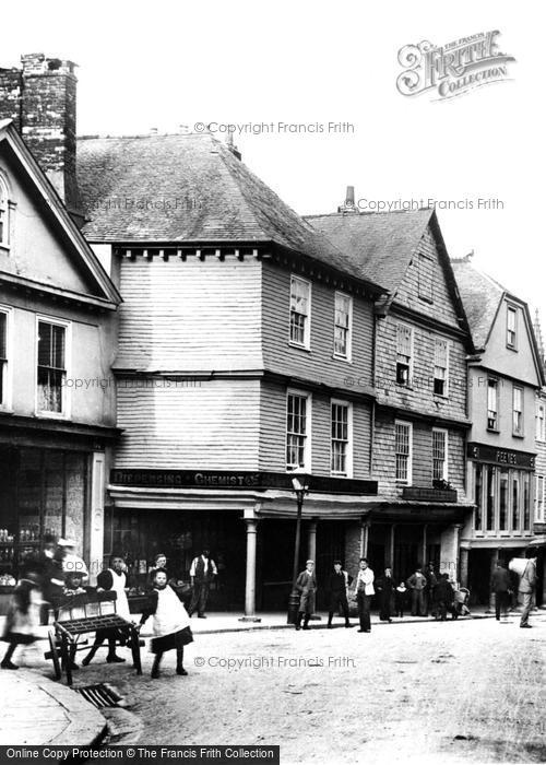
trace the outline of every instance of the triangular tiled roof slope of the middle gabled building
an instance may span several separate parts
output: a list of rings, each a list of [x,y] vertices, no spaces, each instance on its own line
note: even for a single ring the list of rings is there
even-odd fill
[[[394,294],[432,210],[308,215],[306,220],[347,255],[372,282]]]

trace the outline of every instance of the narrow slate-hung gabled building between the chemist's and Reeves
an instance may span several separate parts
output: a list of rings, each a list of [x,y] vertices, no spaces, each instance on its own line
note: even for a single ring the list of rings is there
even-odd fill
[[[308,220],[389,290],[375,308],[371,565],[391,565],[405,579],[432,562],[458,580],[460,532],[472,509],[464,475],[472,340],[436,214],[361,214],[348,205]]]

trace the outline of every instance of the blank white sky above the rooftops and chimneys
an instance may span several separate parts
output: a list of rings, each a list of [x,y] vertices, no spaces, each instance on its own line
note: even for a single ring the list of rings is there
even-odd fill
[[[76,62],[80,134],[175,132],[199,122],[224,138],[222,126],[236,126],[244,162],[300,214],[334,212],[347,185],[363,210],[437,200],[451,257],[473,250],[476,267],[546,321],[545,8],[505,0],[8,3],[0,67],[36,51]],[[404,46],[446,46],[489,31],[515,59],[505,81],[450,99],[397,91]]]

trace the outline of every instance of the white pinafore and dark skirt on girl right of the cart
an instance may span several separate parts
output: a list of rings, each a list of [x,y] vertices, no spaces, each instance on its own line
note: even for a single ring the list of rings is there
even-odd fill
[[[163,654],[173,648],[183,648],[193,642],[190,617],[177,593],[167,585],[151,593],[150,608],[142,614],[141,623],[154,616],[154,635],[150,644],[152,654]]]

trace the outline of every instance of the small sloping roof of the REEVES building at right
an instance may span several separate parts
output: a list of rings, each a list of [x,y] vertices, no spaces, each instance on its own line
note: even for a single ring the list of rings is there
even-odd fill
[[[505,287],[486,273],[478,271],[467,258],[452,260],[459,292],[476,350],[485,349],[497,315]]]

